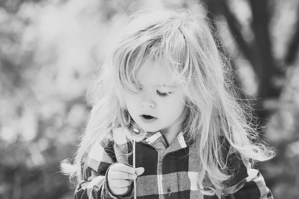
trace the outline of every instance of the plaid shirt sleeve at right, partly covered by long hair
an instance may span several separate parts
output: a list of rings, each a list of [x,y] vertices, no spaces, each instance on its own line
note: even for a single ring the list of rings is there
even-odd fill
[[[243,161],[240,155],[231,154],[229,158],[229,164],[235,169],[223,190],[224,199],[273,199],[258,170],[251,168],[251,164]]]

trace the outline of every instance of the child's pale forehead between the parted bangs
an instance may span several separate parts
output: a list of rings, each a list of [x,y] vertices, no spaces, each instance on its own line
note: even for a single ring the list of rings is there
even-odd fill
[[[164,59],[147,62],[141,68],[137,80],[142,86],[176,87],[176,82],[168,71],[168,63]]]

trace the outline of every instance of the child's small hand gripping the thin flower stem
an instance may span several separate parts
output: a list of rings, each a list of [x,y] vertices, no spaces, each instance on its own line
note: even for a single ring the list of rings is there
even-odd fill
[[[145,172],[143,167],[132,168],[123,163],[117,163],[110,167],[108,171],[108,187],[115,195],[125,196],[132,189],[133,180]]]

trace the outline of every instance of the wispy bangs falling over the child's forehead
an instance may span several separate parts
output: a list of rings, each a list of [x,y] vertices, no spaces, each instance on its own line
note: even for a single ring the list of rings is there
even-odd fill
[[[144,25],[144,24],[143,24]],[[176,26],[176,28],[174,27]],[[182,21],[171,18],[141,27],[134,34],[128,34],[115,53],[114,63],[121,89],[127,92],[139,92],[140,72],[148,62],[164,59],[165,67],[178,87],[185,87],[190,79],[190,53],[186,48],[185,36],[181,28]],[[179,84],[177,84],[179,82]]]

